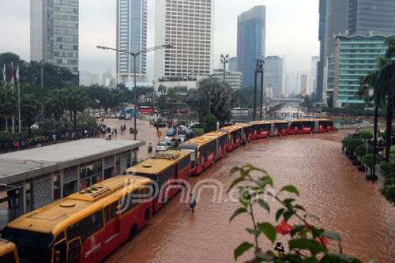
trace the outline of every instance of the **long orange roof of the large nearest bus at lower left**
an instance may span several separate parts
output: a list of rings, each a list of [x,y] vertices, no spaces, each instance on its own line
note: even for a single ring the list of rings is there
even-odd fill
[[[132,192],[143,188],[150,182],[150,179],[141,176],[115,176],[28,212],[8,223],[7,227],[58,235],[68,226],[91,215],[92,212],[121,199],[125,195],[125,187],[128,192]]]

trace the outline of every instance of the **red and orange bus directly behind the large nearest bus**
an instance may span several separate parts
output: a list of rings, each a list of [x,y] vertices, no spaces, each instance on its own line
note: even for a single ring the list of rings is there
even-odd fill
[[[191,174],[191,154],[182,151],[161,152],[128,168],[126,173],[143,176],[157,182],[159,194],[153,201],[154,212],[157,212],[182,187],[181,182],[173,180],[187,180]]]

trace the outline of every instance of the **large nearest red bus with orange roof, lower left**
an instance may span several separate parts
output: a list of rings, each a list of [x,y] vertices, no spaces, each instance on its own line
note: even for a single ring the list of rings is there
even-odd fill
[[[100,262],[152,216],[151,180],[115,176],[11,221],[21,262]]]

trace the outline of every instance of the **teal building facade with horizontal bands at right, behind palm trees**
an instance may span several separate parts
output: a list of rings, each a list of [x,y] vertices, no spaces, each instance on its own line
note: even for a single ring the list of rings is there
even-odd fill
[[[378,68],[378,57],[387,51],[385,36],[338,35],[334,58],[333,107],[363,105],[358,96],[360,79]]]

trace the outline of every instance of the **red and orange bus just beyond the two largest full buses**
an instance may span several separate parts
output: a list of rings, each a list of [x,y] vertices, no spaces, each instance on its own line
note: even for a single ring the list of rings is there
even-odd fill
[[[216,138],[195,137],[180,144],[178,149],[191,152],[191,174],[198,175],[215,161]]]

